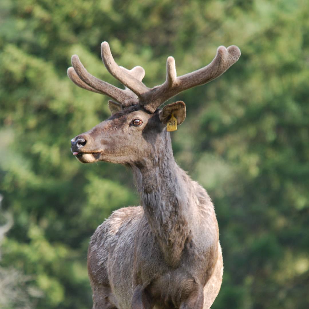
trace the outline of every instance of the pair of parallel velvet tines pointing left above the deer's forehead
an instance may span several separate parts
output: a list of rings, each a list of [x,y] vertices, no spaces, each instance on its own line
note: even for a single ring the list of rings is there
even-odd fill
[[[112,99],[126,106],[138,103],[138,98],[135,94],[128,93],[127,91],[106,83],[88,73],[77,55],[72,56],[71,62],[73,68],[70,67],[67,74],[73,83],[79,87],[108,95]]]

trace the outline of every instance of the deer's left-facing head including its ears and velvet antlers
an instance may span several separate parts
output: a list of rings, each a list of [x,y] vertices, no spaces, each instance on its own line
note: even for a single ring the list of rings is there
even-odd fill
[[[112,116],[86,133],[71,140],[71,151],[82,163],[108,161],[121,164],[142,163],[152,158],[154,149],[161,149],[169,141],[167,122],[180,125],[186,117],[182,101],[159,106],[186,89],[203,85],[224,73],[240,57],[237,46],[220,46],[209,65],[177,77],[175,60],[167,58],[166,80],[162,85],[148,88],[142,83],[145,70],[118,66],[107,42],[101,44],[101,56],[107,70],[125,89],[106,83],[87,72],[77,55],[72,56],[69,78],[79,87],[105,94]]]

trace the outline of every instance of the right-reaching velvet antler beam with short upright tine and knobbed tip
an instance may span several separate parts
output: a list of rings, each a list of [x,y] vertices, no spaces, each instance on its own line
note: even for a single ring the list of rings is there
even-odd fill
[[[176,76],[176,66],[173,57],[167,58],[166,81],[156,86],[143,95],[143,102],[147,102],[144,107],[149,112],[154,112],[162,103],[181,91],[203,85],[223,74],[240,57],[240,49],[235,46],[219,46],[213,61],[207,66],[194,72]]]

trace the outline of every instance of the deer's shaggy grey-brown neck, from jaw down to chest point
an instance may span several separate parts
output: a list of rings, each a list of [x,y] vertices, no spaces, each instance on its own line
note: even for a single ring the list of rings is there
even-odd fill
[[[191,235],[192,181],[176,164],[169,133],[151,159],[133,167],[142,206],[165,260],[176,266]],[[193,198],[194,200],[194,198]]]

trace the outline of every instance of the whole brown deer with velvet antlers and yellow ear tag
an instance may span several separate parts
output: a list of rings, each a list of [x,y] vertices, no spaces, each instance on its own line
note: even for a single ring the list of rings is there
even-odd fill
[[[219,46],[207,66],[182,76],[170,56],[165,82],[153,88],[142,82],[141,66],[118,66],[107,42],[101,44],[101,57],[125,89],[91,75],[72,56],[69,78],[110,97],[112,115],[73,138],[71,151],[81,163],[129,167],[141,205],[113,211],[91,237],[87,268],[92,308],[210,308],[223,276],[214,205],[173,156],[170,132],[185,120],[184,102],[160,106],[220,76],[239,59],[240,50]]]

